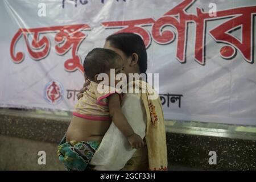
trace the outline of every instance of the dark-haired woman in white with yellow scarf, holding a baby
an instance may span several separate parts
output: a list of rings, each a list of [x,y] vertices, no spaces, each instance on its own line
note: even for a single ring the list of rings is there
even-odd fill
[[[104,48],[118,53],[124,61],[126,73],[147,70],[147,52],[140,36],[120,33],[106,38]],[[142,89],[142,81],[135,81]],[[77,94],[78,98],[86,90]],[[134,132],[144,136],[146,146],[132,149],[112,123],[90,162],[96,170],[167,170],[166,131],[160,99],[148,100],[148,93],[128,93],[122,98],[122,112]]]

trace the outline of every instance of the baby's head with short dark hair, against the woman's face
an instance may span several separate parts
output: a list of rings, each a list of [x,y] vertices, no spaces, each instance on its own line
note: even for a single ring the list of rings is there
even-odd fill
[[[106,73],[110,79],[110,69],[115,69],[115,75],[123,73],[122,57],[110,49],[94,48],[85,57],[84,73],[91,81],[100,82],[100,73]]]

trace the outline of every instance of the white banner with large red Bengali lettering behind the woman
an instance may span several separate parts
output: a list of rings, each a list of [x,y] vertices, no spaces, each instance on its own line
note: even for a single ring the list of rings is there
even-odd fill
[[[256,125],[255,0],[0,1],[0,106],[72,110],[82,62],[144,40],[166,119]]]

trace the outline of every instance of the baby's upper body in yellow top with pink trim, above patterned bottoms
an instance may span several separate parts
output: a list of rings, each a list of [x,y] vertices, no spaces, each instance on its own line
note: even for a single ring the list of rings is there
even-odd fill
[[[83,142],[88,147],[91,147],[93,142],[100,143],[111,121],[113,121],[115,126],[125,135],[131,147],[139,148],[144,145],[142,138],[134,133],[121,111],[122,94],[98,92],[98,85],[101,82],[97,80],[98,75],[106,73],[110,79],[110,69],[114,69],[115,75],[123,73],[121,56],[110,49],[95,48],[85,57],[85,78],[90,80],[90,84],[88,90],[84,92],[84,96],[75,106],[73,118],[67,131],[67,142],[75,140],[75,142]],[[117,83],[115,81],[115,85]],[[90,148],[94,151],[96,149],[97,146]]]

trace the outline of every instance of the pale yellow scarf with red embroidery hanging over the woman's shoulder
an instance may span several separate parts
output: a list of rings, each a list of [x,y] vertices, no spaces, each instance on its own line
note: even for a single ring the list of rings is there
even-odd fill
[[[141,98],[147,114],[146,144],[149,169],[167,170],[166,127],[164,123],[162,102],[152,86],[144,81],[134,81],[141,89]],[[152,97],[155,96],[155,97]]]

